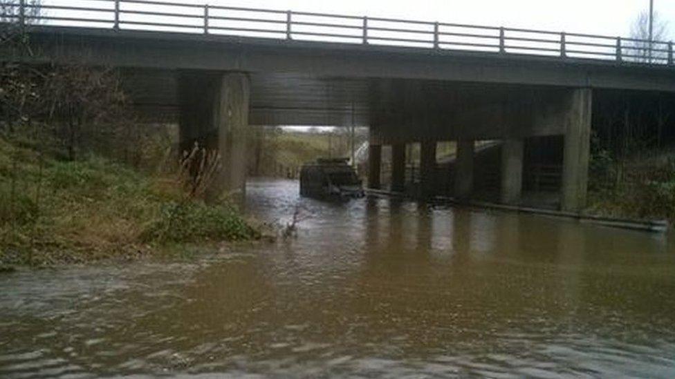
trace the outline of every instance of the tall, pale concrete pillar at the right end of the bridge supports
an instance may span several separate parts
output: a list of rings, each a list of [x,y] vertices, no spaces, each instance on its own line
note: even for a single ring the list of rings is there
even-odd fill
[[[590,88],[573,90],[569,100],[565,117],[560,207],[563,211],[580,211],[586,206],[589,182],[593,93]]]

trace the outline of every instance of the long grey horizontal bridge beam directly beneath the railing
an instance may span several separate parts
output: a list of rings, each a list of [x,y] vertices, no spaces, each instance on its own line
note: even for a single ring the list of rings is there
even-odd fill
[[[340,46],[315,41],[287,41],[209,35],[172,35],[147,30],[102,30],[33,25],[30,44],[36,64],[91,64],[167,70],[246,70],[296,72],[324,77],[360,77],[461,81],[464,83],[593,86],[631,90],[675,88],[673,71],[658,65],[618,65],[521,54],[411,49],[403,46]],[[200,48],[195,49],[195,46]],[[0,46],[0,59],[10,56]],[[345,62],[348,62],[346,64]]]

